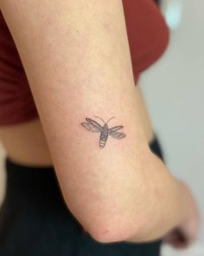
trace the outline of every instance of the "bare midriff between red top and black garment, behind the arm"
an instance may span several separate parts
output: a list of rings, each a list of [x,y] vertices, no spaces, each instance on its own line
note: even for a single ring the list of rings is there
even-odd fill
[[[153,139],[153,130],[138,86],[136,87],[136,101],[137,108],[140,109],[141,122],[143,123],[147,142],[150,142]],[[16,125],[0,127],[0,138],[11,160],[32,166],[53,165],[39,118]]]

